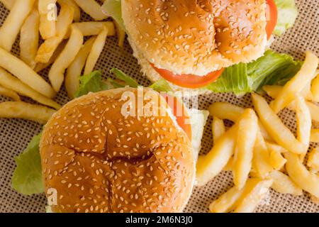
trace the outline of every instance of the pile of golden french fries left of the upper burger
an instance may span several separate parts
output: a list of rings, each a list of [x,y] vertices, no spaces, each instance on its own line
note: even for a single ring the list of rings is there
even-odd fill
[[[10,11],[0,27],[0,95],[13,99],[0,104],[1,118],[45,123],[60,109],[53,99],[62,84],[65,83],[69,98],[74,99],[80,75],[94,70],[106,38],[116,31],[121,34],[121,42],[125,37],[112,21],[103,21],[108,16],[94,0],[0,2]],[[92,21],[79,22],[82,11]],[[18,35],[20,55],[16,56],[11,49]],[[87,36],[90,38],[86,40]],[[38,74],[49,67],[50,83]],[[19,95],[39,104],[23,102]]]

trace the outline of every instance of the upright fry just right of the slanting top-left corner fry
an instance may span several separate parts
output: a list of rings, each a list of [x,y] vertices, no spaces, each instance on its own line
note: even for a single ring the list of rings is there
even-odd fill
[[[20,58],[32,69],[35,68],[35,56],[39,46],[39,13],[35,9],[24,21],[20,32]]]

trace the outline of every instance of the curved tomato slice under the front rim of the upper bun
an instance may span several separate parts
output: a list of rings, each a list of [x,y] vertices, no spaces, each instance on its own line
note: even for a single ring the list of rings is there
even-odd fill
[[[152,67],[155,69],[156,72],[158,72],[164,79],[167,81],[176,84],[180,87],[187,87],[187,88],[198,88],[198,87],[204,87],[211,82],[216,81],[218,77],[223,73],[223,69],[211,72],[207,74],[206,76],[199,77],[192,74],[174,74],[173,72],[170,72],[169,70],[159,69],[155,67],[155,65],[151,64]]]

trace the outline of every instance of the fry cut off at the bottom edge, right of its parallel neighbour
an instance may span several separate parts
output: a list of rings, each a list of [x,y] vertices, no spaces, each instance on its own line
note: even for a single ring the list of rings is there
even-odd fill
[[[267,196],[269,188],[272,186],[272,179],[258,180],[252,190],[238,201],[235,213],[252,213],[260,204],[262,199]]]

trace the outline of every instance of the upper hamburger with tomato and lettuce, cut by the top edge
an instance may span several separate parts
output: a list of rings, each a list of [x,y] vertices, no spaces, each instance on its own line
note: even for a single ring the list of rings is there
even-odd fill
[[[281,35],[293,25],[296,6],[293,0],[282,1],[111,0],[102,9],[128,34],[133,54],[151,82],[165,79],[175,92],[246,93],[255,89],[253,79],[247,79],[251,75],[245,68],[228,69],[258,60],[272,33]],[[239,71],[244,75],[236,74]],[[267,80],[269,69],[264,72]],[[214,84],[220,77],[227,81]],[[237,92],[245,86],[231,87],[232,79],[245,79],[250,88]]]

